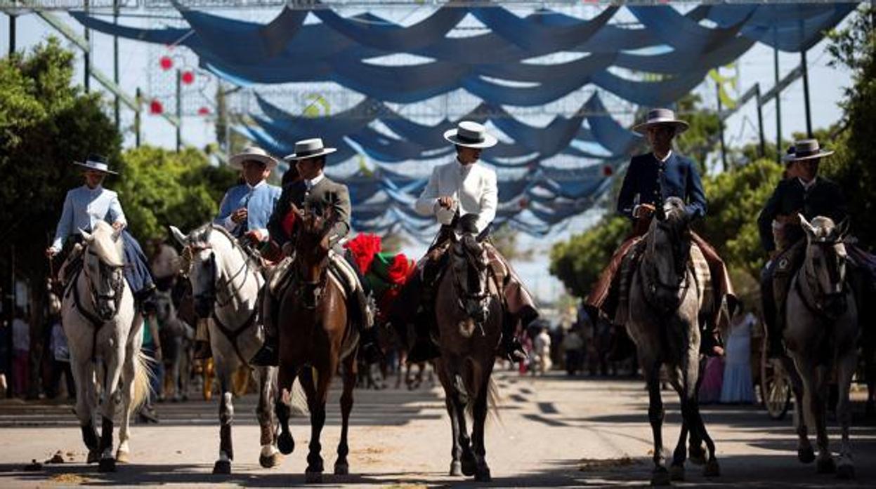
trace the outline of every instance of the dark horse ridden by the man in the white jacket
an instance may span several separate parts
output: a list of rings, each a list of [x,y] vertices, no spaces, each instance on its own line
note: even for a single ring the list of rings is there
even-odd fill
[[[477,325],[466,310],[463,281],[468,273],[463,246],[454,242],[449,253],[449,267],[438,284],[435,297],[441,357],[435,360],[435,370],[444,388],[445,403],[453,430],[453,448],[450,451],[450,475],[475,476],[477,481],[490,481],[490,467],[486,462],[484,425],[489,404],[495,398],[495,384],[491,381],[496,348],[502,332],[503,309],[498,290],[487,274],[478,277],[486,297],[489,314],[484,325]],[[466,427],[466,411],[472,417],[472,431]]]

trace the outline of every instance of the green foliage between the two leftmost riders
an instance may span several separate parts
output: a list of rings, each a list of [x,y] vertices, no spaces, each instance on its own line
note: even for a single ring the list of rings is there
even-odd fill
[[[199,150],[176,153],[150,146],[126,151],[116,188],[131,233],[163,239],[173,224],[188,230],[212,219],[223,193],[237,183],[226,168],[210,166]]]

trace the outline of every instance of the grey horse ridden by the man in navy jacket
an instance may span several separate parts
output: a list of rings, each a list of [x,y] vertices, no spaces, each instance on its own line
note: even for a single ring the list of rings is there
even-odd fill
[[[684,202],[671,197],[658,209],[644,238],[641,260],[629,288],[629,307],[625,324],[639,352],[639,364],[648,388],[648,420],[653,432],[653,485],[668,485],[670,479],[684,479],[687,458],[685,442],[690,430],[692,461],[702,458],[703,440],[709,450],[705,475],[717,476],[715,444],[706,431],[697,403],[700,374],[700,326],[703,311],[710,304],[706,293],[708,274],[698,272],[696,256],[703,262],[699,248],[691,246],[689,218]],[[706,276],[703,276],[706,275]],[[661,366],[666,366],[669,383],[678,393],[682,405],[682,432],[675,447],[671,474],[663,466],[663,402]]]

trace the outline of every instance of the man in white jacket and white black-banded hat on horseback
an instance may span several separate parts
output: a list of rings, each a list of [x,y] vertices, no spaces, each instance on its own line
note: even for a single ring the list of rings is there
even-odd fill
[[[511,265],[495,248],[483,246],[496,217],[498,185],[496,171],[477,162],[482,150],[497,143],[496,137],[477,122],[463,121],[456,129],[445,132],[444,138],[456,145],[456,161],[434,167],[426,188],[415,203],[417,213],[435,215],[442,227],[421,261],[420,273],[414,274],[406,285],[412,288],[410,290],[420,291],[420,312],[414,322],[416,339],[407,360],[419,363],[440,355],[431,334],[435,321],[434,286],[442,271],[446,245],[455,233],[461,236],[460,241],[467,253],[481,257],[485,252],[489,262],[498,262],[505,270],[502,290],[507,311],[502,326],[501,353],[512,361],[526,358],[515,331],[518,323],[526,326],[538,318],[538,311]],[[485,290],[474,292],[474,295],[483,295]],[[480,324],[486,320],[484,306],[482,301],[479,311],[468,311]]]

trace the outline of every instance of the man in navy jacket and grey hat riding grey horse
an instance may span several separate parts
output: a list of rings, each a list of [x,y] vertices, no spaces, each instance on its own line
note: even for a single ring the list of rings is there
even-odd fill
[[[646,122],[632,128],[647,137],[652,152],[632,157],[626,171],[618,195],[618,213],[632,220],[632,234],[611,257],[611,262],[599,276],[587,297],[586,307],[593,315],[603,311],[611,321],[614,320],[620,298],[618,297],[617,276],[620,275],[618,269],[625,257],[646,234],[653,214],[658,208],[662,208],[666,199],[677,197],[686,202],[685,211],[691,219],[701,219],[705,216],[705,192],[696,164],[672,149],[672,140],[687,129],[688,123],[675,119],[675,113],[668,108],[654,108],[648,112]],[[736,307],[736,298],[724,262],[715,249],[698,234],[691,233],[691,239],[703,251],[703,257],[709,263],[713,290],[717,299],[715,304],[720,306],[726,297],[728,311],[732,315]],[[719,310],[720,307],[716,309]],[[724,353],[717,328],[718,321],[719,311],[715,311],[712,317],[704,322],[700,347],[703,353],[710,356]]]

